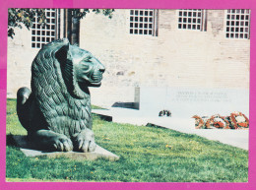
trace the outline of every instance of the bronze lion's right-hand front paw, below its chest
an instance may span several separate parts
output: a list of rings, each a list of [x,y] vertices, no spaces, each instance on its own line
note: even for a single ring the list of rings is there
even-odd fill
[[[95,134],[92,130],[86,129],[75,138],[74,149],[80,152],[88,153],[96,150]]]

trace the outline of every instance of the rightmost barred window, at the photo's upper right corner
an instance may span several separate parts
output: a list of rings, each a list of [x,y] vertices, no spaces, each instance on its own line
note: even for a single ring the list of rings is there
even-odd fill
[[[226,38],[249,38],[250,10],[228,9],[226,12]]]

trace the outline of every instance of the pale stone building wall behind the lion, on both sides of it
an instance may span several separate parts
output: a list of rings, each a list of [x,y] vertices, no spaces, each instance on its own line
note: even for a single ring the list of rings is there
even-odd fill
[[[160,10],[158,36],[130,34],[129,10],[115,10],[112,19],[89,14],[81,21],[80,46],[106,67],[102,86],[91,89],[92,102],[132,102],[135,87],[248,89],[250,40],[225,38],[225,11],[207,12],[207,32],[200,32],[178,30],[178,12]],[[36,54],[17,40],[8,46],[9,95],[30,84]]]

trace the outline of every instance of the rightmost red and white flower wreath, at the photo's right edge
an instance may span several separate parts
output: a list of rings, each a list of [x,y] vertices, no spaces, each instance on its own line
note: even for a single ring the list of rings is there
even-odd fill
[[[230,122],[234,129],[248,129],[249,119],[241,112],[234,111],[230,114]]]

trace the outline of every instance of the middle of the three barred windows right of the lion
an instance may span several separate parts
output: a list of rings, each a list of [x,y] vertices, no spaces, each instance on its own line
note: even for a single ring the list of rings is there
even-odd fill
[[[180,9],[178,12],[178,29],[202,31],[202,9]]]

